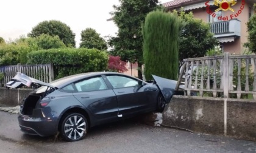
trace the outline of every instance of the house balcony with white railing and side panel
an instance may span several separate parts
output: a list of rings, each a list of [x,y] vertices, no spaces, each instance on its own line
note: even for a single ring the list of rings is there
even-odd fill
[[[214,22],[210,24],[211,32],[215,34],[216,38],[240,36],[241,21],[238,19],[231,19],[229,21]]]

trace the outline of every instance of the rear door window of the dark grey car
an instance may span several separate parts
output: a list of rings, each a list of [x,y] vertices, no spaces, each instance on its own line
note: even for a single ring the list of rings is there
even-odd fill
[[[88,92],[88,91],[96,91],[96,90],[105,90],[107,89],[107,85],[101,77],[90,78],[87,80],[79,81],[75,83],[76,89],[79,92]]]

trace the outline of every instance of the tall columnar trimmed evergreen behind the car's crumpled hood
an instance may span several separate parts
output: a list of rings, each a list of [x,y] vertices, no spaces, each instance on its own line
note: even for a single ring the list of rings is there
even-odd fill
[[[180,19],[161,10],[146,16],[143,25],[143,55],[147,80],[152,74],[177,80]]]

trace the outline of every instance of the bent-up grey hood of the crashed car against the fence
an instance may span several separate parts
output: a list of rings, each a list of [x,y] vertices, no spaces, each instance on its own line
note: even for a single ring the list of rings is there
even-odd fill
[[[169,103],[169,101],[171,101],[172,95],[174,95],[177,81],[158,77],[156,75],[152,75],[152,77],[157,83],[157,87],[160,89],[166,103]]]

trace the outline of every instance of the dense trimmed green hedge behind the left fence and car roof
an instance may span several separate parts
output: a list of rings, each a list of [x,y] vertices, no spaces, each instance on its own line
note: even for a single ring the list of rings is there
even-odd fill
[[[54,65],[54,79],[107,69],[108,55],[97,49],[49,49],[30,52],[27,64]]]

